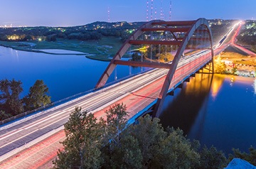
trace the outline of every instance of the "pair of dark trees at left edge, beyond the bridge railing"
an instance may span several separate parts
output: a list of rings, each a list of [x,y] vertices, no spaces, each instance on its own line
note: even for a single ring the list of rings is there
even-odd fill
[[[0,81],[0,120],[50,103],[50,97],[47,95],[48,87],[43,80],[36,80],[22,99],[20,99],[20,94],[23,92],[21,84],[21,80]]]

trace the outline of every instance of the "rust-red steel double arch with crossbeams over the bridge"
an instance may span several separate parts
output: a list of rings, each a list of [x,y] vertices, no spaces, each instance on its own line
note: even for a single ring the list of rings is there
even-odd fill
[[[171,26],[171,27],[170,27]],[[135,31],[132,36],[130,36],[122,45],[122,47],[118,50],[116,55],[110,61],[110,64],[107,66],[105,72],[103,72],[100,80],[97,82],[95,89],[103,87],[107,82],[108,78],[112,74],[114,68],[117,65],[132,65],[139,67],[156,67],[156,68],[165,68],[169,69],[168,74],[166,75],[166,79],[164,81],[163,87],[159,94],[159,97],[156,102],[156,106],[154,108],[154,116],[159,117],[161,112],[161,107],[164,104],[164,99],[169,90],[169,86],[171,84],[172,77],[174,76],[174,72],[176,71],[178,61],[181,59],[181,55],[186,49],[186,45],[188,41],[192,38],[193,34],[196,32],[197,28],[200,26],[204,26],[206,28],[206,32],[208,33],[208,40],[210,40],[210,50],[212,55],[212,64],[213,64],[213,39],[212,33],[210,31],[210,26],[208,25],[208,21],[206,18],[198,18],[196,21],[149,21],[141,26],[137,31]],[[174,40],[137,40],[142,33],[146,31],[169,31],[174,36]],[[177,38],[174,32],[184,32],[186,33],[183,38]],[[131,45],[139,45],[139,44],[148,44],[148,45],[178,45],[179,48],[174,57],[172,64],[167,63],[159,63],[159,62],[134,62],[134,61],[124,61],[121,60],[124,53],[127,52]],[[212,66],[213,68],[213,66]]]

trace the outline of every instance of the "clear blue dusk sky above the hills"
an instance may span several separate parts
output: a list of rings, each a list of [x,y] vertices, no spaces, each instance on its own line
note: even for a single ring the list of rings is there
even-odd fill
[[[146,21],[147,0],[0,0],[0,26],[80,26],[95,21]],[[153,19],[169,21],[170,0],[154,0]],[[149,0],[149,20],[151,20]],[[256,0],[172,0],[171,20],[256,19]],[[108,17],[108,8],[110,17]],[[156,17],[154,12],[156,11]]]

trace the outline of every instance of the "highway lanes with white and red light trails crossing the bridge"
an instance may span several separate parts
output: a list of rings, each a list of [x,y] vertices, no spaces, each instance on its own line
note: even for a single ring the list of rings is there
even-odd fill
[[[220,50],[220,47],[215,48],[215,50]],[[181,82],[184,77],[200,68],[201,65],[209,60],[210,50],[204,50],[196,55],[183,58],[178,64],[178,69],[174,74],[174,80],[171,82],[170,88]],[[15,124],[1,127],[0,168],[4,168],[7,165],[8,167],[6,168],[9,168],[11,165],[18,165],[21,162],[17,163],[15,158],[11,159],[12,162],[10,160],[6,162],[6,159],[27,148],[26,145],[28,147],[33,146],[33,144],[37,145],[39,141],[43,140],[43,138],[48,138],[53,133],[59,134],[53,143],[63,141],[65,138],[62,131],[63,124],[68,121],[70,111],[73,111],[75,107],[82,107],[82,110],[90,111],[97,117],[104,117],[105,109],[116,102],[124,102],[127,105],[127,110],[130,112],[129,117],[134,116],[134,114],[137,114],[138,111],[144,109],[144,107],[157,98],[167,71],[162,69],[150,70],[65,104],[41,111],[30,118],[17,121]],[[31,144],[32,142],[33,144]],[[22,156],[25,156],[24,153]],[[56,156],[56,151],[50,155],[50,157],[54,156]],[[18,159],[18,156],[16,158]],[[26,159],[20,158],[20,160]],[[29,165],[31,164],[28,163]]]

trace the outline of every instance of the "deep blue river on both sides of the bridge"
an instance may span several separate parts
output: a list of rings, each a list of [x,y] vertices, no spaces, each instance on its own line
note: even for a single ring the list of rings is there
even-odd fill
[[[47,84],[52,101],[85,92],[95,87],[107,64],[84,55],[29,53],[0,46],[0,80],[21,80],[21,97],[36,80]],[[118,66],[109,82],[140,71],[140,67]],[[174,96],[166,97],[160,119],[164,126],[183,129],[201,145],[213,145],[226,154],[231,148],[247,151],[250,145],[256,147],[256,80],[225,75],[191,77]]]

